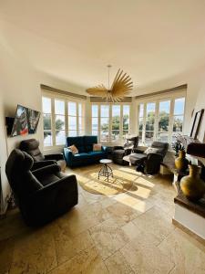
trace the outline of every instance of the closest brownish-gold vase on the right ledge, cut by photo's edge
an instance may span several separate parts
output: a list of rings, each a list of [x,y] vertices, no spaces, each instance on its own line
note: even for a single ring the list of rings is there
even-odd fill
[[[205,183],[200,179],[200,166],[189,164],[190,174],[180,180],[183,194],[191,201],[196,202],[205,194]]]

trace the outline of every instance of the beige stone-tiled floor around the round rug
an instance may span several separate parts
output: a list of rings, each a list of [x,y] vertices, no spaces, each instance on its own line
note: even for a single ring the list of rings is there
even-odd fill
[[[67,173],[84,176],[88,168]],[[171,223],[171,180],[113,168],[133,175],[133,190],[102,196],[79,186],[79,204],[38,229],[17,210],[0,220],[0,274],[205,273],[205,247]]]

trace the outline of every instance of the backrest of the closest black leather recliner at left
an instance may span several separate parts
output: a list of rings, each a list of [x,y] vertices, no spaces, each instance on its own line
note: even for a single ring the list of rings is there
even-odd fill
[[[28,195],[42,187],[30,172],[34,164],[33,158],[18,149],[10,153],[5,164],[5,174],[15,195]]]

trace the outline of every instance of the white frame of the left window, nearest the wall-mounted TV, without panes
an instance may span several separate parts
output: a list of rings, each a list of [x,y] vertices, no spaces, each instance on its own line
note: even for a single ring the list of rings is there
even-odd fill
[[[85,132],[85,124],[86,124],[86,117],[85,117],[85,108],[86,108],[86,100],[80,100],[77,98],[73,98],[70,96],[66,96],[66,95],[61,95],[58,93],[54,93],[54,92],[48,92],[43,90],[42,91],[42,99],[43,97],[45,98],[49,98],[51,100],[51,134],[52,134],[52,142],[53,145],[51,146],[45,146],[44,145],[44,150],[50,150],[53,148],[60,148],[60,147],[64,147],[66,144],[66,139],[65,139],[65,143],[64,144],[56,144],[56,112],[55,112],[55,100],[62,100],[65,103],[65,133],[66,133],[66,138],[68,135],[68,102],[75,102],[77,103],[77,136],[79,136],[80,132],[82,132],[82,130]],[[81,104],[82,105],[82,116],[78,116],[78,105]],[[43,103],[42,103],[42,116],[44,115],[44,111],[43,111]],[[79,128],[79,117],[81,117],[82,119],[82,126],[83,129]],[[44,121],[43,121],[43,127],[44,127]],[[44,128],[43,128],[43,132]],[[82,134],[81,134],[82,135]],[[44,138],[44,137],[43,137]]]

